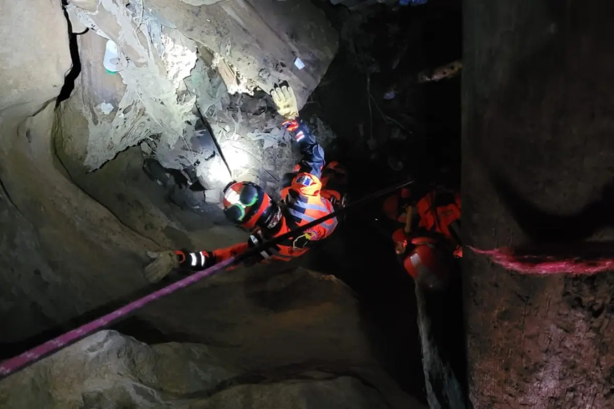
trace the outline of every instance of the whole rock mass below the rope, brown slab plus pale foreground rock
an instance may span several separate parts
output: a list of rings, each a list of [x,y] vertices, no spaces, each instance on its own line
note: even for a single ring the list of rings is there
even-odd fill
[[[98,332],[2,381],[0,407],[422,407],[377,364],[343,283],[302,269],[250,277],[220,276],[141,315],[192,342]]]

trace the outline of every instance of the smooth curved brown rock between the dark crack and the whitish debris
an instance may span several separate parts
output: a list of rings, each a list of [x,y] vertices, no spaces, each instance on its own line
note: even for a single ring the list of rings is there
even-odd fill
[[[217,206],[205,213],[182,210],[166,199],[168,189],[149,180],[142,170],[146,155],[134,146],[117,153],[95,172],[89,172],[87,157],[91,139],[104,143],[104,129],[112,128],[122,107],[120,101],[126,84],[119,74],[107,74],[103,68],[106,39],[93,31],[77,37],[81,71],[71,98],[61,103],[53,147],[72,182],[104,205],[125,226],[155,243],[154,250],[169,248],[214,248],[243,240],[241,229],[225,220]],[[101,112],[109,104],[109,112]],[[130,109],[138,109],[135,101]],[[119,115],[120,116],[120,115]],[[91,134],[90,121],[98,124],[98,134]],[[160,140],[158,145],[166,143]],[[183,146],[183,140],[178,145]],[[177,153],[174,153],[177,156]],[[198,193],[195,193],[195,195]],[[200,193],[201,199],[203,193]]]

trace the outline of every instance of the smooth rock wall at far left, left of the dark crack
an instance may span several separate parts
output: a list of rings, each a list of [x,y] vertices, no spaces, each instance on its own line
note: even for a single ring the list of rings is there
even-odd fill
[[[11,329],[0,337],[15,342],[144,285],[138,253],[155,244],[77,188],[56,161],[53,99],[71,68],[60,4],[2,2],[0,14],[1,316]],[[41,23],[24,30],[26,21]]]

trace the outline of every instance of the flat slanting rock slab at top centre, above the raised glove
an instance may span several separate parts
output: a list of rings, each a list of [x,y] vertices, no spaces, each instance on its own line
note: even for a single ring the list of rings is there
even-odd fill
[[[213,2],[190,1],[196,3]],[[275,83],[289,82],[303,107],[338,46],[337,34],[324,13],[308,0],[214,3],[177,7],[172,0],[150,2],[185,36],[217,53],[253,85],[268,92]],[[295,66],[296,58],[305,68]]]

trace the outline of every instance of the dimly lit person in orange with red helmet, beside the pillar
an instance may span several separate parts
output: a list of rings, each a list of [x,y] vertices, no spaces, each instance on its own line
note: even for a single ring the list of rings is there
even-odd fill
[[[405,270],[419,285],[443,288],[453,269],[451,256],[462,257],[461,195],[430,191],[414,202],[404,188],[387,197],[383,210],[398,227],[392,241]]]

